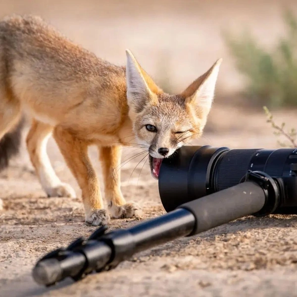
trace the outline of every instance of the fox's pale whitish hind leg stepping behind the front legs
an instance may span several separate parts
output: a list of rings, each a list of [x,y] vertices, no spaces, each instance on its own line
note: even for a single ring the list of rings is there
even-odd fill
[[[33,119],[26,143],[31,162],[48,197],[75,198],[70,185],[62,183],[54,172],[47,154],[47,143],[53,127]]]

